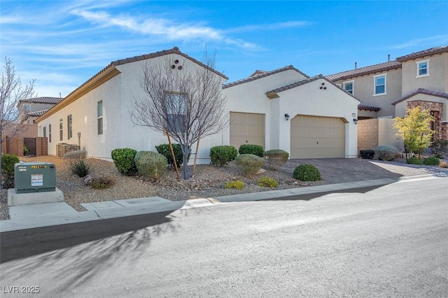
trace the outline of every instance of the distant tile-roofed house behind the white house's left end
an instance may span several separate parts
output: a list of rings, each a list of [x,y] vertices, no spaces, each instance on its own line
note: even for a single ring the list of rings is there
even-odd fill
[[[17,107],[20,111],[18,121],[32,124],[34,120],[43,115],[49,108],[62,101],[60,97],[34,97],[20,100]]]

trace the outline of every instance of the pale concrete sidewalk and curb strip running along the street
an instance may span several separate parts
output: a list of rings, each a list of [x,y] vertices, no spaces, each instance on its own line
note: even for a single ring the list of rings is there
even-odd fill
[[[102,201],[98,203],[81,204],[87,210],[83,212],[76,211],[65,202],[13,206],[9,209],[11,219],[0,221],[0,232],[9,232],[18,229],[31,229],[36,227],[48,227],[52,225],[63,225],[90,220],[102,220],[106,218],[120,218],[163,211],[175,211],[180,208],[216,206],[218,204],[226,204],[237,201],[259,201],[263,199],[282,198],[288,199],[288,197],[291,198],[304,194],[341,192],[344,190],[353,191],[356,189],[360,189],[360,192],[362,192],[365,187],[380,187],[381,185],[391,183],[402,183],[412,180],[426,180],[443,177],[448,177],[448,171],[428,173],[419,176],[352,181],[347,183],[300,187],[286,190],[272,190],[268,192],[237,194],[207,199],[190,199],[187,201],[170,201],[161,197]]]

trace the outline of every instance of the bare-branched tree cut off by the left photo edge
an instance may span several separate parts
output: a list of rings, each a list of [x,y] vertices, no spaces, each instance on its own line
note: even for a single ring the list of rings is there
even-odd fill
[[[0,87],[0,156],[2,154],[3,134],[8,132],[8,137],[12,138],[24,127],[18,122],[19,115],[22,112],[18,107],[19,102],[32,97],[34,97],[34,80],[31,80],[25,86],[22,85],[20,76],[15,76],[13,62],[5,57],[4,71],[1,71]],[[2,185],[1,175],[0,185]]]

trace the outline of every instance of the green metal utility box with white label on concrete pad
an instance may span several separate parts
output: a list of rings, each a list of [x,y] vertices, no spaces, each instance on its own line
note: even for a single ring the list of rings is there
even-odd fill
[[[15,192],[56,191],[56,166],[48,162],[20,162],[14,165]]]

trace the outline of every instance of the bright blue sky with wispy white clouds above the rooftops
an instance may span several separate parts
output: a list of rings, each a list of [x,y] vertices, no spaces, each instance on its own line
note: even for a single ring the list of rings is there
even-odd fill
[[[314,76],[448,45],[448,1],[8,1],[0,52],[40,97],[69,94],[117,59],[216,50],[228,82],[292,64]]]

